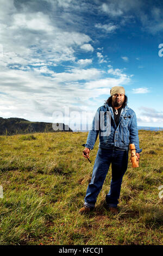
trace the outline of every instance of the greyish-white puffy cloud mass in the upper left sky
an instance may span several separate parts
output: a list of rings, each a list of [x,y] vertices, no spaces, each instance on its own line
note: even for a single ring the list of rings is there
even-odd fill
[[[47,62],[56,65],[68,60],[74,62],[77,47],[84,45],[87,50],[93,50],[87,44],[91,41],[90,36],[59,28],[51,15],[42,11],[29,11],[28,5],[26,11],[18,12],[13,1],[6,2],[10,4],[2,4],[0,11],[0,36],[3,42],[0,65],[28,65],[36,63],[37,59],[45,65]]]

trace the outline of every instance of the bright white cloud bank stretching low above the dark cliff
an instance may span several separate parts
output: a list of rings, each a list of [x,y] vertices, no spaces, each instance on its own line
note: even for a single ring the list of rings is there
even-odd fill
[[[56,73],[47,66],[35,66],[28,71],[0,70],[4,93],[0,94],[0,116],[52,121],[53,111],[60,110],[61,106],[69,106],[73,111],[76,106],[89,104],[91,98],[93,102],[88,106],[93,109],[98,105],[98,97],[110,94],[109,88],[130,82],[129,76],[102,78],[103,74],[104,71],[95,68]],[[17,109],[3,109],[3,106]]]

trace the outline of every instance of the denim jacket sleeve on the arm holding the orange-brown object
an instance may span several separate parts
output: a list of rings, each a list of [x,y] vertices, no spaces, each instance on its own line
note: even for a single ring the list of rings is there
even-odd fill
[[[135,112],[133,114],[133,117],[131,118],[129,132],[130,132],[130,144],[135,145],[136,153],[141,153],[142,149],[139,148],[139,135],[138,135],[137,120],[136,120]]]

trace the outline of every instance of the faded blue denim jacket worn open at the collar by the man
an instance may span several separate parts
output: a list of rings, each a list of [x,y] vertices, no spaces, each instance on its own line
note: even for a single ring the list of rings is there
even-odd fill
[[[122,108],[120,119],[116,127],[112,107],[104,103],[99,107],[92,121],[85,148],[93,149],[99,133],[99,148],[126,149],[130,144],[135,144],[136,153],[141,153],[137,130],[136,114],[128,106]]]

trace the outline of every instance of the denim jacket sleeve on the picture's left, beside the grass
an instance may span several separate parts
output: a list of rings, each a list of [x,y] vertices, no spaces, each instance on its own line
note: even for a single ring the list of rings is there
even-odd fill
[[[86,144],[83,144],[85,148],[93,149],[95,142],[97,140],[99,133],[99,108],[96,111],[95,116],[93,117],[91,130],[87,136]]]

